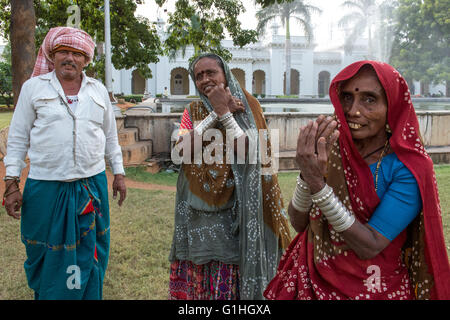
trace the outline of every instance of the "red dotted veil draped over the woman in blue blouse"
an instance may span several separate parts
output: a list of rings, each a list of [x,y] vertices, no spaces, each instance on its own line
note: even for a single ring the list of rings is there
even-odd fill
[[[416,299],[450,298],[450,267],[433,163],[420,137],[408,85],[390,65],[359,61],[333,79],[329,92],[340,137],[330,154],[327,184],[361,223],[369,221],[380,199],[370,168],[354,146],[339,99],[340,83],[366,64],[373,67],[385,90],[387,122],[392,130],[390,145],[417,181],[422,212],[376,257],[361,260],[313,206],[309,227],[286,250],[277,276],[265,292],[267,298],[399,299],[411,297],[411,293]],[[373,266],[390,270],[382,278],[381,291],[364,288]]]

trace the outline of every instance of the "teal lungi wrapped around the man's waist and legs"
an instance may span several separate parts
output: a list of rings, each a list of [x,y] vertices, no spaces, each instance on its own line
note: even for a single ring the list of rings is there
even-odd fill
[[[105,172],[73,182],[28,178],[21,234],[36,299],[101,299],[110,238]]]

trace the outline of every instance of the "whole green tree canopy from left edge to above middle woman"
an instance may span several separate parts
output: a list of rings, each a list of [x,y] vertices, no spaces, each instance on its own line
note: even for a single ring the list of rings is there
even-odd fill
[[[155,0],[155,3],[162,6],[166,1]],[[269,4],[271,1],[266,2]],[[102,42],[103,3],[103,0],[34,0],[36,49],[50,28],[66,25],[67,8],[71,5],[80,8],[80,28],[92,35],[97,43]],[[175,12],[169,13],[169,34],[164,43],[161,43],[152,22],[134,15],[137,5],[142,3],[143,0],[111,1],[112,63],[116,69],[136,68],[143,77],[149,78],[151,70],[148,65],[158,62],[158,55],[174,56],[193,45],[196,53],[212,51],[230,60],[231,53],[221,46],[221,40],[227,34],[237,46],[257,40],[256,31],[241,28],[238,16],[245,8],[240,0],[177,0]],[[256,3],[266,5],[261,0]],[[9,21],[9,1],[0,0],[0,31],[6,39],[9,38]],[[103,78],[104,57],[97,52],[97,58],[88,70]]]

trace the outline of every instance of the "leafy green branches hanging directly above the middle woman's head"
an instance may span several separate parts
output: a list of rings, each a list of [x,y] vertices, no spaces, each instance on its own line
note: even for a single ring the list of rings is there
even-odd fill
[[[156,0],[160,6],[165,2]],[[187,46],[192,45],[191,61],[203,52],[214,52],[230,61],[231,53],[221,46],[225,32],[236,46],[257,40],[256,31],[241,28],[237,17],[244,11],[240,0],[177,0],[175,12],[169,13],[169,35],[164,42],[166,53],[174,58],[181,51],[184,56]]]

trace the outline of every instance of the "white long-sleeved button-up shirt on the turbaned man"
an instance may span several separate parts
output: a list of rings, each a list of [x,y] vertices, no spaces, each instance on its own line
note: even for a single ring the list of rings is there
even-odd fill
[[[124,174],[116,119],[103,84],[83,73],[72,111],[54,71],[27,80],[10,124],[7,176],[20,176],[27,152],[32,179],[91,177],[105,170],[105,157],[113,174]]]

